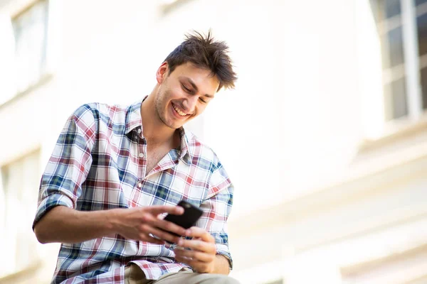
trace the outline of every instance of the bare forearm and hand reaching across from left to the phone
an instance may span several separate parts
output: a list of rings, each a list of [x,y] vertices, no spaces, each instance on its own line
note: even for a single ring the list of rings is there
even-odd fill
[[[159,218],[159,214],[180,215],[184,209],[179,206],[147,206],[131,209],[108,209],[78,211],[65,206],[57,206],[45,214],[34,226],[38,241],[42,244],[75,244],[90,239],[120,234],[126,239],[176,244],[178,236],[185,235],[185,229]],[[162,231],[162,229],[164,231]],[[149,234],[162,240],[154,239]]]

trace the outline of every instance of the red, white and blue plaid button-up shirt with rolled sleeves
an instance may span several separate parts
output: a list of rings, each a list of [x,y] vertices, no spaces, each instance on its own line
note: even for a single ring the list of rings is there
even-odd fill
[[[169,151],[147,175],[140,107],[141,102],[130,107],[85,104],[70,116],[41,178],[33,224],[58,205],[94,211],[186,200],[204,210],[196,226],[214,236],[217,253],[232,266],[226,221],[233,185],[221,162],[181,128],[181,148]],[[188,267],[176,263],[173,249],[118,234],[61,244],[52,283],[124,283],[130,262],[148,279],[158,279]]]

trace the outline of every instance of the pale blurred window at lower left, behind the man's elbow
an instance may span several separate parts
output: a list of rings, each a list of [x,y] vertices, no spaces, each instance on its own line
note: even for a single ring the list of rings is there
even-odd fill
[[[30,153],[1,167],[0,277],[20,271],[38,260],[37,239],[31,228],[36,214],[40,181],[40,152]]]

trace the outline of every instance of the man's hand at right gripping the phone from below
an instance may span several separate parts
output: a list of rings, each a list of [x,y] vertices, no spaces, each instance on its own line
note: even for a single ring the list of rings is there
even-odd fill
[[[196,226],[187,229],[186,236],[192,236],[193,239],[179,240],[174,250],[176,261],[188,264],[198,273],[213,273],[216,258],[214,237]]]

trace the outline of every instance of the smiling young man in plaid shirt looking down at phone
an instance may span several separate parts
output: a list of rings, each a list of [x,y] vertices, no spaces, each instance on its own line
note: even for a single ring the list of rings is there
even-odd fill
[[[215,153],[182,127],[234,87],[227,52],[210,32],[187,35],[142,102],[85,104],[70,116],[33,224],[41,243],[62,243],[53,283],[236,283],[226,276],[233,185]],[[184,212],[180,200],[204,211],[191,229],[162,219]]]

